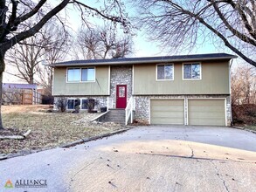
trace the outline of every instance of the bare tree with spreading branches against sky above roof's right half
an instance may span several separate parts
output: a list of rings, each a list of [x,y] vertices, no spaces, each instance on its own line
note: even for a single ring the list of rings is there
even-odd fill
[[[163,47],[171,51],[191,50],[198,42],[212,40],[256,66],[254,0],[137,0],[135,3],[139,5],[139,24]]]

